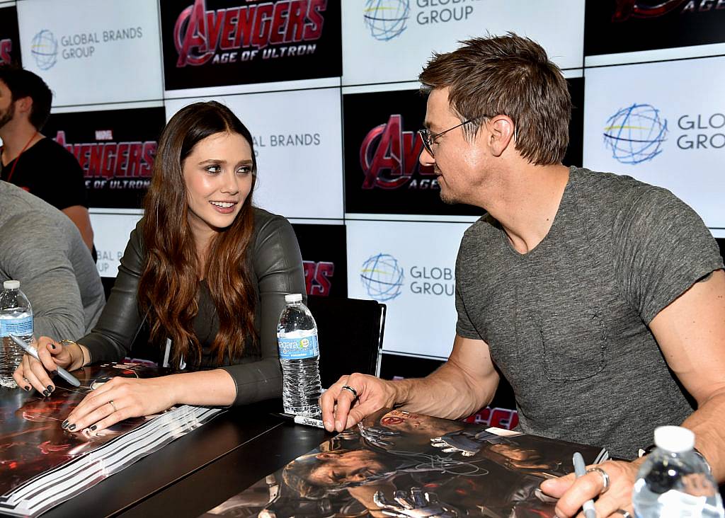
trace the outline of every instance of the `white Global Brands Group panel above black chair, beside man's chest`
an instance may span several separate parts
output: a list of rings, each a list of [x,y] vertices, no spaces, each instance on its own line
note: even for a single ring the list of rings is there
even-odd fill
[[[446,359],[465,223],[347,222],[347,292],[387,304],[383,349]]]

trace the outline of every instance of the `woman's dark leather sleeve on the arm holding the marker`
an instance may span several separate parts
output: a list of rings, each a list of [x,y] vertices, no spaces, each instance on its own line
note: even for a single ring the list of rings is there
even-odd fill
[[[143,220],[142,220],[143,221]],[[141,222],[131,231],[118,267],[116,282],[91,333],[80,338],[91,363],[118,362],[130,352],[144,318],[138,313],[138,281],[144,267]]]

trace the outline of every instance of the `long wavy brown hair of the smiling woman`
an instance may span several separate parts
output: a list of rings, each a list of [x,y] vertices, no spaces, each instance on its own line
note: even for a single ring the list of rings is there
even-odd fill
[[[173,342],[172,364],[199,364],[202,346],[192,322],[199,312],[199,261],[188,224],[183,161],[196,143],[215,133],[238,133],[252,149],[252,189],[233,223],[216,233],[207,248],[204,278],[219,317],[212,343],[218,364],[244,354],[247,338],[257,347],[254,309],[257,294],[250,282],[249,246],[254,230],[252,192],[257,180],[252,134],[230,109],[215,101],[195,103],[177,112],[164,128],[144,199],[146,263],[138,285],[141,311],[148,312],[151,341]]]

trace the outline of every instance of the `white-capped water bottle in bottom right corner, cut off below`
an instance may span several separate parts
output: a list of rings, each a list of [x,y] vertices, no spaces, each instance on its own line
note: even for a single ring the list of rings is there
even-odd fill
[[[637,472],[635,516],[723,518],[710,467],[693,450],[695,434],[679,426],[660,426],[655,429],[655,446]]]

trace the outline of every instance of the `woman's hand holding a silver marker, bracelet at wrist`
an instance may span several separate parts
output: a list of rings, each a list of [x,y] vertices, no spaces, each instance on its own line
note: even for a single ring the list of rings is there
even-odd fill
[[[38,350],[40,362],[30,354],[25,354],[12,375],[20,388],[28,391],[30,388],[35,388],[47,397],[55,390],[55,384],[50,378],[57,375],[58,367],[64,369],[83,367],[83,351],[77,343],[63,346],[52,338],[41,336],[34,345]]]

